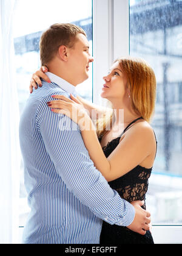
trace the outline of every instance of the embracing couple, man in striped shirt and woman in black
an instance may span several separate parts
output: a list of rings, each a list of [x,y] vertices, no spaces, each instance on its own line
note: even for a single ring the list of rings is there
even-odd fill
[[[83,29],[54,24],[40,55],[19,126],[31,208],[23,243],[152,244],[145,205],[157,151],[152,68],[130,57],[113,63],[101,93],[110,111],[76,94],[93,62]]]

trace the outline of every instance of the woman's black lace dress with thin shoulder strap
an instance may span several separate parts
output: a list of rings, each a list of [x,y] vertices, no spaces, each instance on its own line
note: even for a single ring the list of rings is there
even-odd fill
[[[130,123],[124,132],[138,119],[141,118],[137,118]],[[116,146],[118,146],[121,136],[110,141],[107,146],[103,147],[106,157],[109,157]],[[101,137],[99,137],[99,141],[101,141]],[[118,191],[118,194],[128,202],[136,200],[145,201],[151,172],[152,168],[146,169],[138,165],[124,176],[109,182],[109,185],[113,190]],[[145,204],[143,208],[146,209]],[[127,227],[110,225],[107,222],[103,222],[100,244],[153,244],[153,238],[150,231],[147,231],[146,235],[140,235],[127,229]]]

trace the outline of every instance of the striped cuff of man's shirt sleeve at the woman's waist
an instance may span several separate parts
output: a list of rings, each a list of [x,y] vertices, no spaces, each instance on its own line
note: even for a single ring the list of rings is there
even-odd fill
[[[126,202],[126,208],[126,215],[122,217],[121,221],[115,223],[115,225],[127,227],[132,224],[135,218],[135,208],[129,202]]]

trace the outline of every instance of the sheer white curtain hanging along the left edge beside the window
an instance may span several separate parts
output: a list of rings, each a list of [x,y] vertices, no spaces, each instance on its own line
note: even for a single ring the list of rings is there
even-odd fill
[[[13,46],[16,0],[0,0],[0,243],[18,243],[19,107]]]

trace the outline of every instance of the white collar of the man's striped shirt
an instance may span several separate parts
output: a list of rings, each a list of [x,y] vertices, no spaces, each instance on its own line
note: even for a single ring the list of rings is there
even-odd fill
[[[62,90],[67,91],[67,93],[72,93],[74,95],[77,94],[74,85],[70,84],[66,80],[62,79],[59,76],[56,76],[53,73],[47,72],[45,74],[49,77],[51,82],[59,85],[59,87],[61,87]]]

